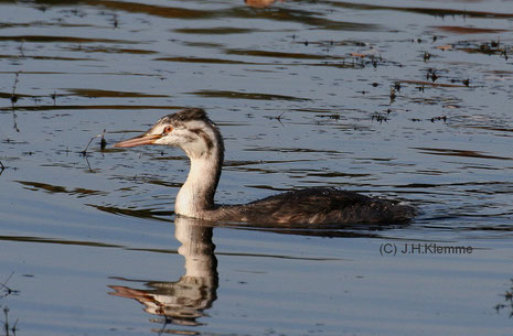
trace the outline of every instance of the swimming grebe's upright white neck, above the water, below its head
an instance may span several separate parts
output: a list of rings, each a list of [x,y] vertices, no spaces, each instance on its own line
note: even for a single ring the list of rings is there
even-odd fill
[[[214,209],[214,194],[221,176],[223,154],[216,148],[211,155],[191,158],[188,180],[177,195],[174,212],[178,215],[203,218]]]

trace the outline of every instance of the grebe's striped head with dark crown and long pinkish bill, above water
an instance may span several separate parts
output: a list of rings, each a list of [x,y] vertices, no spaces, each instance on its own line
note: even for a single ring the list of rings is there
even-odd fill
[[[114,147],[130,148],[143,144],[179,147],[191,159],[224,151],[223,138],[217,127],[200,108],[188,108],[162,117],[143,134],[118,142]]]

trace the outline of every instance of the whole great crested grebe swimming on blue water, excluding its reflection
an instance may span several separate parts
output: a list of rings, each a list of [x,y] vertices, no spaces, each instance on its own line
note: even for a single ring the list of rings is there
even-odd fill
[[[398,200],[367,197],[332,187],[288,192],[245,205],[216,205],[224,143],[205,111],[188,108],[165,116],[146,133],[116,143],[115,148],[165,144],[181,148],[191,160],[189,176],[177,195],[177,215],[215,221],[282,226],[342,226],[351,224],[405,224],[416,210]]]

